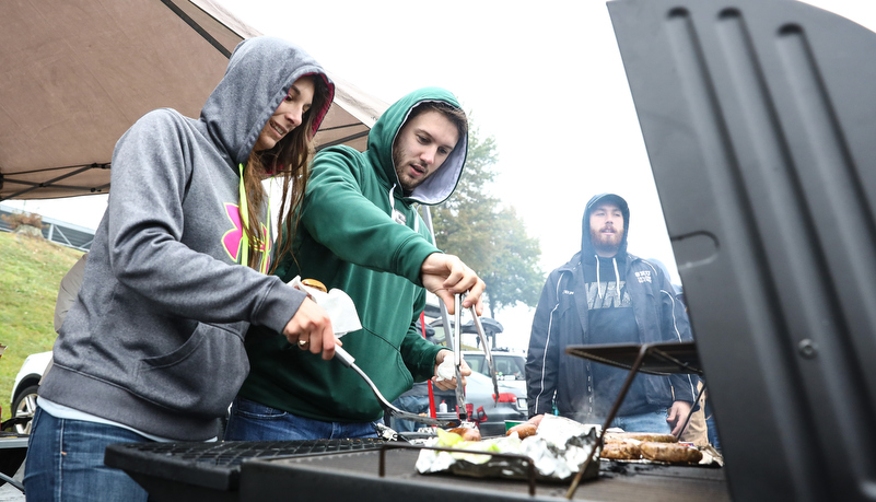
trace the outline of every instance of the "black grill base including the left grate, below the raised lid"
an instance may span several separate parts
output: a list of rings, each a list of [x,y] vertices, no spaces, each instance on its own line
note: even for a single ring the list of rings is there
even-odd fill
[[[416,450],[388,450],[378,440],[114,444],[106,464],[125,470],[155,501],[331,500],[382,502],[454,500],[559,501],[569,482],[419,475]],[[384,476],[381,477],[381,465]],[[724,469],[603,462],[599,478],[575,500],[728,502]]]

